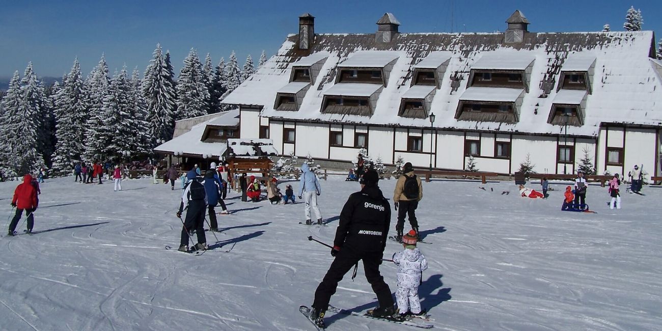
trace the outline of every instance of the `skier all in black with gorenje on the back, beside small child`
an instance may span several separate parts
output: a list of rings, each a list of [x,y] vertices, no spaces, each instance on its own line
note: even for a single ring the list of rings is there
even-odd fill
[[[331,296],[336,293],[342,277],[363,260],[365,278],[379,300],[373,310],[375,316],[391,316],[395,313],[389,285],[379,273],[391,222],[391,206],[377,186],[379,175],[373,169],[361,177],[361,191],[352,193],[340,213],[340,224],[331,255],[331,263],[322,283],[315,291],[310,318],[316,324],[324,324],[324,312]]]

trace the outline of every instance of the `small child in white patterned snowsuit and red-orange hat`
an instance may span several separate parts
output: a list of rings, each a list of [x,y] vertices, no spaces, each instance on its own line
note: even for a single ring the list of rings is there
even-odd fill
[[[428,269],[428,261],[416,248],[417,240],[416,231],[410,230],[402,236],[404,250],[393,254],[393,263],[398,265],[398,289],[395,297],[401,315],[424,313],[418,299],[418,285],[421,282],[422,271]]]

